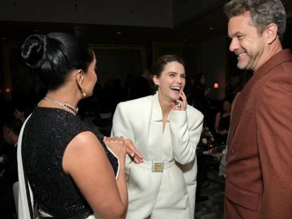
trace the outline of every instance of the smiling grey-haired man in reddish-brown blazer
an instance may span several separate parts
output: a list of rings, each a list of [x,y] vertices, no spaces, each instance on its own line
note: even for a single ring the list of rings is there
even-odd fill
[[[254,72],[234,107],[227,152],[224,218],[292,218],[292,55],[281,39],[280,0],[232,0],[230,51]]]

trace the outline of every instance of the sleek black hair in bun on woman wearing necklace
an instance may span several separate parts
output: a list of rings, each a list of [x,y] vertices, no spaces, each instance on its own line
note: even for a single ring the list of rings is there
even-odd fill
[[[86,43],[66,33],[31,35],[21,45],[20,54],[27,66],[37,70],[48,90],[63,85],[73,69],[86,73],[94,58]]]

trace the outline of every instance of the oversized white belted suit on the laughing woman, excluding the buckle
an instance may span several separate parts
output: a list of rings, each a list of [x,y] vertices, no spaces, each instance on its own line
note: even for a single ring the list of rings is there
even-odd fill
[[[194,218],[202,125],[202,113],[187,105],[186,111],[170,111],[163,130],[158,93],[118,104],[111,136],[131,139],[144,158],[135,164],[126,157],[127,218],[155,218],[156,209],[164,208],[163,218]],[[164,161],[163,173],[151,171],[152,160]]]

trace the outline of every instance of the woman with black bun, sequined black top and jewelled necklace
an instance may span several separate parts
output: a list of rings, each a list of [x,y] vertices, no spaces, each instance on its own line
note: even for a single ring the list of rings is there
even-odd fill
[[[34,218],[30,198],[39,218],[125,218],[125,155],[138,163],[141,156],[130,140],[100,139],[75,116],[97,81],[93,50],[75,36],[50,33],[29,36],[20,52],[48,92],[20,134],[19,218]]]

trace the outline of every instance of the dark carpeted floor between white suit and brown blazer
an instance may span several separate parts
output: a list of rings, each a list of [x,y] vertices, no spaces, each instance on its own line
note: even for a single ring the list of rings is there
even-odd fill
[[[202,196],[208,196],[206,202],[196,203],[195,219],[222,219],[224,209],[225,184],[214,169],[208,170],[210,185],[201,191]]]

